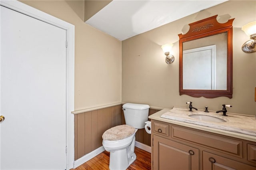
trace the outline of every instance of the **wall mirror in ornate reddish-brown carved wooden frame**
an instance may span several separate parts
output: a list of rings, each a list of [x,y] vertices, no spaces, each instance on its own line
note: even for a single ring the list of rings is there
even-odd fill
[[[178,34],[180,95],[232,98],[232,23],[218,23],[218,15],[189,24]]]

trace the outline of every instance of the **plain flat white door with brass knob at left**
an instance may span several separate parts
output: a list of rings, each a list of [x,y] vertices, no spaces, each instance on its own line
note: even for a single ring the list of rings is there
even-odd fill
[[[66,30],[1,6],[0,169],[66,169]]]

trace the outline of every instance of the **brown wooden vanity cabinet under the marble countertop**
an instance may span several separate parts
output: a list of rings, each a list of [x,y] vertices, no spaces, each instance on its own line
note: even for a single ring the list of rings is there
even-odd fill
[[[256,170],[256,142],[152,122],[152,170]]]

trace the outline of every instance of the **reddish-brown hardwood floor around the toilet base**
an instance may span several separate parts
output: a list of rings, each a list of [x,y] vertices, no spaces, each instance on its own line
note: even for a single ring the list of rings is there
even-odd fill
[[[135,147],[136,160],[127,170],[151,170],[151,154]],[[74,170],[109,170],[109,152],[106,150]]]

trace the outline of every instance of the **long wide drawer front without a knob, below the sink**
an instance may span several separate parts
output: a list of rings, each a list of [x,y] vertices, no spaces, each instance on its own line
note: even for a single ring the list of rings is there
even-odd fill
[[[242,158],[242,141],[172,126],[172,138],[200,144]]]

